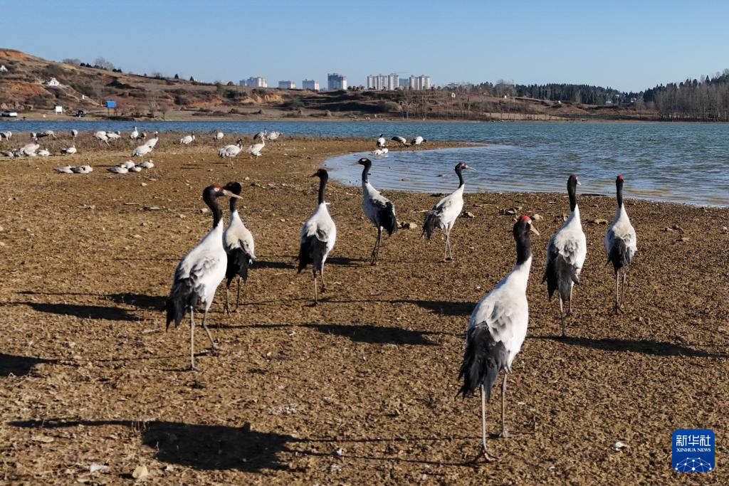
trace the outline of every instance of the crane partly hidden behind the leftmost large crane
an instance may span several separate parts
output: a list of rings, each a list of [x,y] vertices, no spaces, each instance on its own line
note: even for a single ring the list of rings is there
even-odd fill
[[[230,192],[241,195],[241,184],[233,182]],[[243,219],[238,213],[238,199],[230,198],[230,222],[228,222],[225,233],[223,233],[223,245],[227,254],[227,270],[225,270],[225,311],[230,313],[228,305],[228,289],[233,278],[238,281],[238,291],[235,297],[235,310],[238,312],[238,305],[241,302],[241,280],[248,280],[248,269],[256,259],[255,245],[251,231],[243,224]]]

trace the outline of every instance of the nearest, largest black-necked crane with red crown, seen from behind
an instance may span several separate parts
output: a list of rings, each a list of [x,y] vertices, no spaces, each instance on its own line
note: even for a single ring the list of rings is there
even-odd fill
[[[529,324],[529,302],[526,299],[526,284],[531,269],[531,240],[529,233],[539,235],[531,225],[529,216],[521,216],[514,224],[516,241],[516,264],[511,272],[502,278],[485,297],[478,301],[471,313],[466,332],[466,350],[459,371],[463,385],[459,394],[464,398],[480,389],[481,394],[481,444],[483,457],[492,461],[486,447],[486,402],[491,398],[499,372],[504,370],[502,381],[502,431],[506,430],[506,382],[511,364],[526,337]]]

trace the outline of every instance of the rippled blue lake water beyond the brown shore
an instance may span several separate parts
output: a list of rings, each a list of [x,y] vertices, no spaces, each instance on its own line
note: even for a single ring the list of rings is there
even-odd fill
[[[625,177],[625,194],[651,200],[729,206],[729,125],[704,123],[459,123],[341,121],[62,122],[0,121],[1,130],[168,130],[256,133],[262,128],[306,136],[399,135],[483,144],[464,149],[407,150],[373,159],[371,181],[380,189],[449,192],[453,166],[464,161],[467,190],[564,192],[577,173],[580,192],[612,194],[615,176]],[[389,142],[395,145],[394,142]],[[327,160],[332,177],[359,184],[364,154]],[[444,176],[439,176],[443,174]],[[403,181],[402,179],[407,179]]]

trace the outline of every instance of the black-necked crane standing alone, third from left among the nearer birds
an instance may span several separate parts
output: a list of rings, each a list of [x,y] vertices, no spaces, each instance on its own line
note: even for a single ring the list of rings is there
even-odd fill
[[[324,262],[327,261],[327,256],[337,240],[337,227],[329,214],[327,203],[324,201],[324,189],[327,187],[329,173],[324,169],[319,169],[311,177],[319,177],[319,197],[316,211],[301,228],[298,273],[301,273],[301,270],[311,263],[314,278],[314,305],[316,305],[319,302],[316,272],[321,275],[321,292],[323,293],[327,290],[327,283],[324,281]]]

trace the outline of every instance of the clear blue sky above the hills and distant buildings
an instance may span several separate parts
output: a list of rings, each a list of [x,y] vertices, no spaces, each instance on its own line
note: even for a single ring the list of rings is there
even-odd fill
[[[643,90],[729,67],[727,1],[2,0],[0,47],[270,86],[328,72]]]

